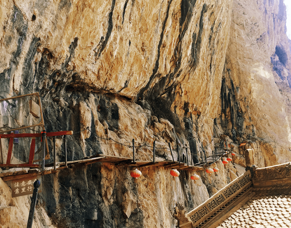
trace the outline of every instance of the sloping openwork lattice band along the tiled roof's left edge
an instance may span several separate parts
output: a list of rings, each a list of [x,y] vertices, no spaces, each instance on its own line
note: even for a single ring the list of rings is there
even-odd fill
[[[251,189],[250,172],[246,172],[221,189],[198,208],[187,213],[194,227],[203,227],[228,205]]]

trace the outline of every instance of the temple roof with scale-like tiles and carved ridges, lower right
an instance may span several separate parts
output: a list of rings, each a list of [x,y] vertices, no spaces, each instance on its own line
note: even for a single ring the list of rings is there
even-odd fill
[[[291,227],[291,163],[247,172],[189,213],[175,208],[178,227]]]

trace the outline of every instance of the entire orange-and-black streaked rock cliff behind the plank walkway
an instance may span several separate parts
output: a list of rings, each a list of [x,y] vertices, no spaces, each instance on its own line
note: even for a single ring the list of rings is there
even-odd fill
[[[289,161],[285,18],[282,0],[1,1],[0,96],[40,92],[46,130],[74,131],[69,161],[132,157],[134,138],[137,160],[152,160],[156,140],[157,160],[171,159],[170,142],[195,163],[212,153],[213,129],[237,152],[237,164],[218,162],[217,176],[197,172],[197,184],[193,171],[172,178],[162,167],[140,168],[133,181],[132,168],[111,163],[46,175],[34,226],[175,227],[177,203],[193,209],[242,166]],[[29,197],[11,199],[7,184],[0,210],[13,213],[0,225],[23,227]]]

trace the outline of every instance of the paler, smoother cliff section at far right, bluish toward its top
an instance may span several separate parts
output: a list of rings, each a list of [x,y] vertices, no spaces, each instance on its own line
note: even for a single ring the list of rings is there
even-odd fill
[[[283,1],[233,4],[219,122],[259,167],[290,160],[290,49]],[[220,111],[219,111],[220,113]],[[251,159],[252,160],[252,159]]]

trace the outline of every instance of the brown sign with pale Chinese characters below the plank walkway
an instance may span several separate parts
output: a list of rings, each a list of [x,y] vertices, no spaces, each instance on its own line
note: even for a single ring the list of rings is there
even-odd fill
[[[38,178],[41,184],[41,177]],[[12,197],[30,195],[33,193],[33,183],[36,181],[36,177],[26,177],[18,180],[13,180],[11,189]],[[41,192],[41,188],[38,189],[38,193]]]

